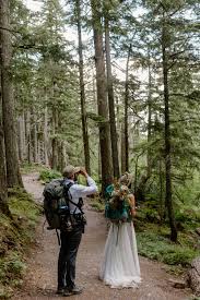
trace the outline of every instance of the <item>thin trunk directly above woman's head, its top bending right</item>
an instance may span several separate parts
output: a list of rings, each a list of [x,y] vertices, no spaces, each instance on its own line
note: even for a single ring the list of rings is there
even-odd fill
[[[129,125],[128,125],[128,105],[129,105],[129,60],[132,45],[130,44],[127,57],[126,67],[126,82],[125,82],[125,134],[121,139],[121,157],[125,157],[125,161],[121,159],[121,172],[129,170]]]

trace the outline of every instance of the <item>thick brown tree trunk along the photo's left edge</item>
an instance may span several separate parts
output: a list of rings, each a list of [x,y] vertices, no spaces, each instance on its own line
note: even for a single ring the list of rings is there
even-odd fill
[[[11,33],[10,29],[10,1],[0,0],[0,29],[1,38],[1,91],[2,91],[2,116],[5,144],[7,183],[8,187],[23,185],[20,175],[16,125],[14,122],[14,101],[11,74]],[[7,29],[8,28],[8,29]]]

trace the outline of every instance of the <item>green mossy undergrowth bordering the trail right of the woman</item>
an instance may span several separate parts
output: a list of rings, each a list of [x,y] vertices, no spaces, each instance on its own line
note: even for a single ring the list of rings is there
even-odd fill
[[[152,203],[141,205],[134,225],[139,253],[169,265],[169,272],[181,273],[200,255],[200,239],[196,232],[196,228],[200,227],[199,207],[193,209],[190,205],[188,209],[183,204],[175,215],[178,227],[177,243],[170,242],[167,219],[161,223],[157,209]]]

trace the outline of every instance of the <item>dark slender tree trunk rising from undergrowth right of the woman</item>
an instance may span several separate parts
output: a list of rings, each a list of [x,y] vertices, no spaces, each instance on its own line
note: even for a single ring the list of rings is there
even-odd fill
[[[174,216],[172,199],[172,159],[170,159],[170,119],[169,119],[169,93],[168,93],[168,57],[167,57],[167,25],[166,16],[163,15],[162,27],[162,55],[163,55],[163,85],[164,85],[164,104],[165,104],[165,170],[166,170],[166,205],[170,225],[170,239],[177,241],[177,228]]]

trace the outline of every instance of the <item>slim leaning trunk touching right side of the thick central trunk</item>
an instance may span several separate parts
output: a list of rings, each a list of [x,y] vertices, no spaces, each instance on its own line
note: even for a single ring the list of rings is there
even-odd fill
[[[106,70],[107,70],[107,91],[109,104],[109,123],[111,136],[111,157],[114,167],[114,177],[119,178],[119,157],[118,157],[118,135],[116,129],[114,86],[111,74],[110,45],[109,45],[109,21],[108,11],[105,12],[105,46],[106,46]]]

